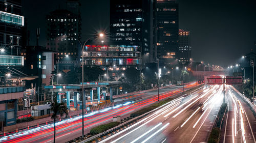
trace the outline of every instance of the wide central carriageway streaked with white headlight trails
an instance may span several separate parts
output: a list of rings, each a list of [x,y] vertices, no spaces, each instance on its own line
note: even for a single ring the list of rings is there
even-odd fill
[[[102,142],[207,142],[223,102],[221,85],[179,97]]]

